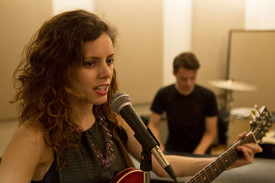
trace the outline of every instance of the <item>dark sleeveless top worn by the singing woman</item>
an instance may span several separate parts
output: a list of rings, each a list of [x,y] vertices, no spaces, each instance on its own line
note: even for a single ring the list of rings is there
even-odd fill
[[[122,129],[117,134],[126,147],[126,132]],[[54,162],[43,180],[32,180],[32,183],[111,182],[115,175],[127,167],[118,142],[113,138],[115,160],[111,169],[104,170],[100,167],[98,158],[96,158],[96,154],[91,146],[91,138],[100,152],[103,152],[105,149],[104,136],[98,127],[98,122],[96,122],[89,130],[82,133],[80,147],[76,151],[67,153],[66,160],[68,166],[65,169],[57,171],[56,158],[54,158]]]

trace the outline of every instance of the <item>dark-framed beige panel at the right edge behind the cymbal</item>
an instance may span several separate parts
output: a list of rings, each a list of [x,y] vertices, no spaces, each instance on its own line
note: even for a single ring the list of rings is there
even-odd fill
[[[230,78],[256,86],[253,91],[234,91],[233,107],[266,106],[275,111],[275,30],[232,31]]]

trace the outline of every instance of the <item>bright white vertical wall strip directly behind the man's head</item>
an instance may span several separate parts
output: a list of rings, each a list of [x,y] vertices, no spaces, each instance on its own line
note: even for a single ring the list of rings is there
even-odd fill
[[[175,81],[173,60],[182,51],[190,51],[192,28],[191,0],[164,0],[164,66],[163,84]]]

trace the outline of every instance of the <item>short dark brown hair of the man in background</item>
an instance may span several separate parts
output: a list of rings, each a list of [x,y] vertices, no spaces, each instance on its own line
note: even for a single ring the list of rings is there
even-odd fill
[[[180,53],[173,62],[173,69],[175,72],[179,70],[179,67],[197,71],[199,66],[199,60],[197,60],[197,57],[191,52]]]

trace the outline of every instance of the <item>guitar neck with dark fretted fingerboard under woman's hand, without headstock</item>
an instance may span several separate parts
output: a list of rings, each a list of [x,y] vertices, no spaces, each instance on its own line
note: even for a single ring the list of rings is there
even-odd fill
[[[218,156],[214,161],[208,164],[204,169],[199,171],[199,173],[194,175],[185,183],[211,182],[241,156],[241,151],[236,150],[236,147],[245,143],[256,143],[256,138],[254,138],[254,134],[252,132],[245,136],[245,138],[232,145],[232,147]]]

